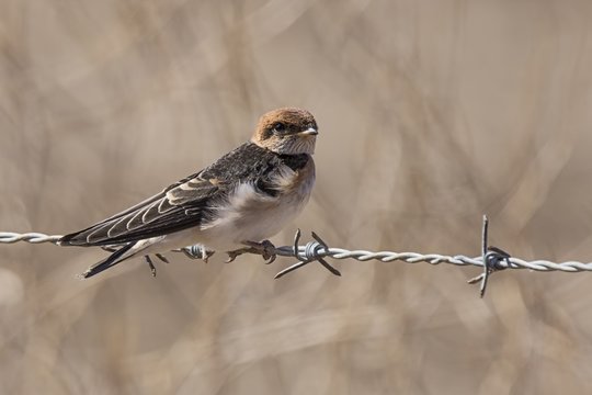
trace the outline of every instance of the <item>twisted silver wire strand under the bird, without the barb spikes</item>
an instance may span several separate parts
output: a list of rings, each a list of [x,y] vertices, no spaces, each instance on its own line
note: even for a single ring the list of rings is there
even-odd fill
[[[57,245],[60,235],[45,235],[42,233],[13,233],[0,232],[0,244],[14,244],[25,241],[31,244],[52,242]],[[200,246],[190,246],[182,249],[173,250],[173,252],[183,252],[190,258],[201,258]],[[294,246],[276,247],[272,251],[281,257],[297,258],[303,262],[310,262],[319,258],[332,259],[355,259],[357,261],[379,260],[382,262],[402,261],[406,263],[425,262],[430,264],[456,264],[456,266],[476,266],[483,267],[482,257],[467,257],[463,255],[446,256],[440,253],[419,253],[419,252],[394,252],[394,251],[366,251],[366,250],[348,250],[344,248],[328,248],[319,241],[311,241],[305,246],[297,246],[297,252],[294,253]],[[258,253],[258,252],[250,252]],[[530,269],[542,272],[563,271],[563,272],[581,272],[592,271],[592,262],[583,263],[578,261],[551,262],[548,260],[526,261],[515,257],[500,259],[496,262],[496,270],[502,269]]]

